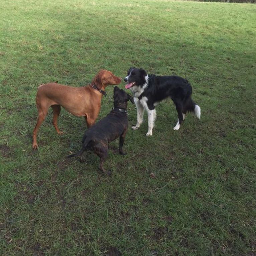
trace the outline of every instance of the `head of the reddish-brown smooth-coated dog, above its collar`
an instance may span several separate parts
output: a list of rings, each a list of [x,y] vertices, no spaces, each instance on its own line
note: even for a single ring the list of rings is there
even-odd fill
[[[100,90],[110,84],[119,84],[121,80],[121,77],[117,77],[110,71],[102,69],[94,76],[92,83]]]

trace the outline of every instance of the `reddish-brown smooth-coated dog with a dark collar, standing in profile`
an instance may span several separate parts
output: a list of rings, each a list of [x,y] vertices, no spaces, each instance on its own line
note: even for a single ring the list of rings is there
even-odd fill
[[[110,71],[100,70],[88,86],[70,87],[58,83],[42,84],[37,89],[36,106],[38,109],[37,122],[33,131],[33,149],[38,149],[36,142],[37,131],[42,124],[49,107],[53,110],[53,126],[58,134],[57,118],[60,106],[75,116],[84,116],[87,128],[94,124],[100,110],[102,95],[105,95],[105,87],[110,84],[119,84],[121,78]]]

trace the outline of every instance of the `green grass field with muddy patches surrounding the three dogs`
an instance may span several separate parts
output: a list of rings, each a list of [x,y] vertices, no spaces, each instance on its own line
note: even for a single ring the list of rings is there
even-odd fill
[[[255,256],[255,13],[253,4],[2,0],[0,255]],[[64,135],[50,110],[32,152],[38,85],[84,86],[99,69],[124,77],[130,66],[189,79],[201,119],[173,131],[174,104],[162,102],[152,137],[145,115],[126,156],[110,144],[110,177],[94,154],[66,159],[85,121],[64,109]]]

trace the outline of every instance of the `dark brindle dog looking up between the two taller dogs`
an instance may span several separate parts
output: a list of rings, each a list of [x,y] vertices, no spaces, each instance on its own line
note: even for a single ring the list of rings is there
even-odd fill
[[[99,170],[105,174],[111,174],[103,168],[107,158],[108,143],[119,137],[119,154],[125,155],[122,150],[125,135],[128,129],[127,101],[134,103],[133,97],[124,90],[114,87],[114,107],[110,113],[99,122],[91,126],[84,134],[83,148],[68,157],[76,157],[84,151],[93,151],[99,158]]]

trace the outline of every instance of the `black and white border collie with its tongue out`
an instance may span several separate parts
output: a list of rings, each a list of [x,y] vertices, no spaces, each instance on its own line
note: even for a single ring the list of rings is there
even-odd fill
[[[133,130],[137,130],[143,122],[143,114],[148,112],[148,132],[151,136],[156,119],[156,105],[165,98],[171,97],[178,112],[178,122],[173,128],[179,130],[180,124],[187,112],[194,112],[200,118],[201,109],[191,98],[192,87],[190,83],[179,76],[156,76],[147,74],[142,68],[130,68],[124,78],[126,89],[133,92],[134,102],[137,107],[137,124]]]

